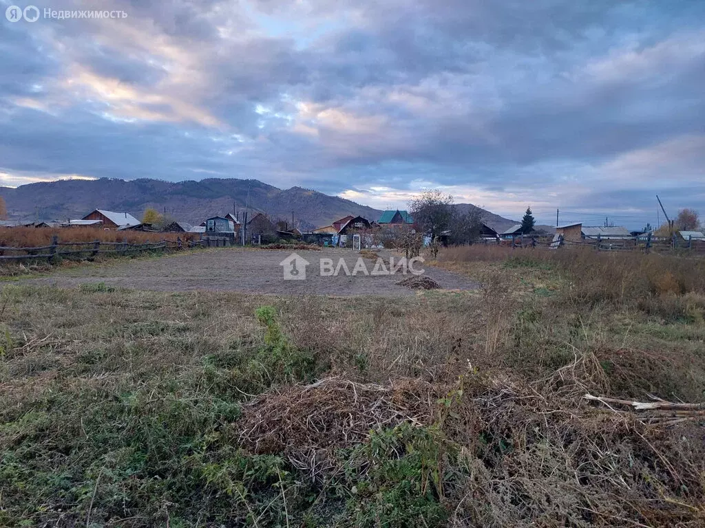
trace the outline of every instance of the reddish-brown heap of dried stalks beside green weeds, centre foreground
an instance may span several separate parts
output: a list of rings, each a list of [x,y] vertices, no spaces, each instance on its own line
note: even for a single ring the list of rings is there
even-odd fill
[[[283,453],[316,479],[332,469],[333,450],[364,442],[371,430],[433,423],[443,388],[419,379],[383,386],[338,377],[286,386],[245,406],[240,441],[255,453]]]

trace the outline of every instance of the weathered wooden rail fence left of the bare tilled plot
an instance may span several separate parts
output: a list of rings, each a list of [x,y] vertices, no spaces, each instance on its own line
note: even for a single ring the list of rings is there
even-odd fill
[[[142,251],[175,250],[192,247],[201,247],[201,241],[161,240],[145,244],[130,244],[122,242],[103,242],[94,240],[90,242],[60,242],[58,237],[52,237],[51,245],[35,248],[16,248],[0,246],[0,260],[29,260],[33,258],[54,258],[57,256],[86,256],[94,257],[99,254],[112,253],[114,255],[131,255]],[[11,254],[8,254],[11,253]]]

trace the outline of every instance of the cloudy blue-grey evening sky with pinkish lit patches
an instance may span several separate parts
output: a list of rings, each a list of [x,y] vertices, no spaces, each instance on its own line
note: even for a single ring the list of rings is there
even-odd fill
[[[658,194],[705,215],[705,1],[13,4],[2,185],[255,178],[376,208],[438,188],[635,228]]]

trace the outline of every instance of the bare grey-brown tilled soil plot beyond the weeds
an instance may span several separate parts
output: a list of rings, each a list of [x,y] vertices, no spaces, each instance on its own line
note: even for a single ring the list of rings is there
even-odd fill
[[[26,284],[53,284],[77,287],[88,282],[104,282],[108,286],[154,291],[244,291],[264,294],[379,295],[412,296],[413,289],[396,284],[411,275],[366,276],[362,272],[336,277],[321,276],[320,259],[329,258],[333,265],[343,258],[352,274],[359,253],[346,249],[298,251],[309,262],[305,280],[284,280],[281,261],[288,251],[252,249],[209,249],[160,258],[118,260],[113,263],[85,265],[58,270],[48,277],[26,279]],[[385,257],[388,260],[388,257]],[[372,272],[374,260],[364,259]],[[441,289],[475,289],[477,284],[453,272],[421,265],[424,275],[436,281]],[[419,265],[415,266],[418,269]]]

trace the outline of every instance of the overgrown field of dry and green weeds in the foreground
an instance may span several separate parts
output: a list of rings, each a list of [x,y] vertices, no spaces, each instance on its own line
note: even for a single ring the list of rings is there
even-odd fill
[[[448,249],[410,298],[7,284],[0,526],[705,523],[705,263]]]

